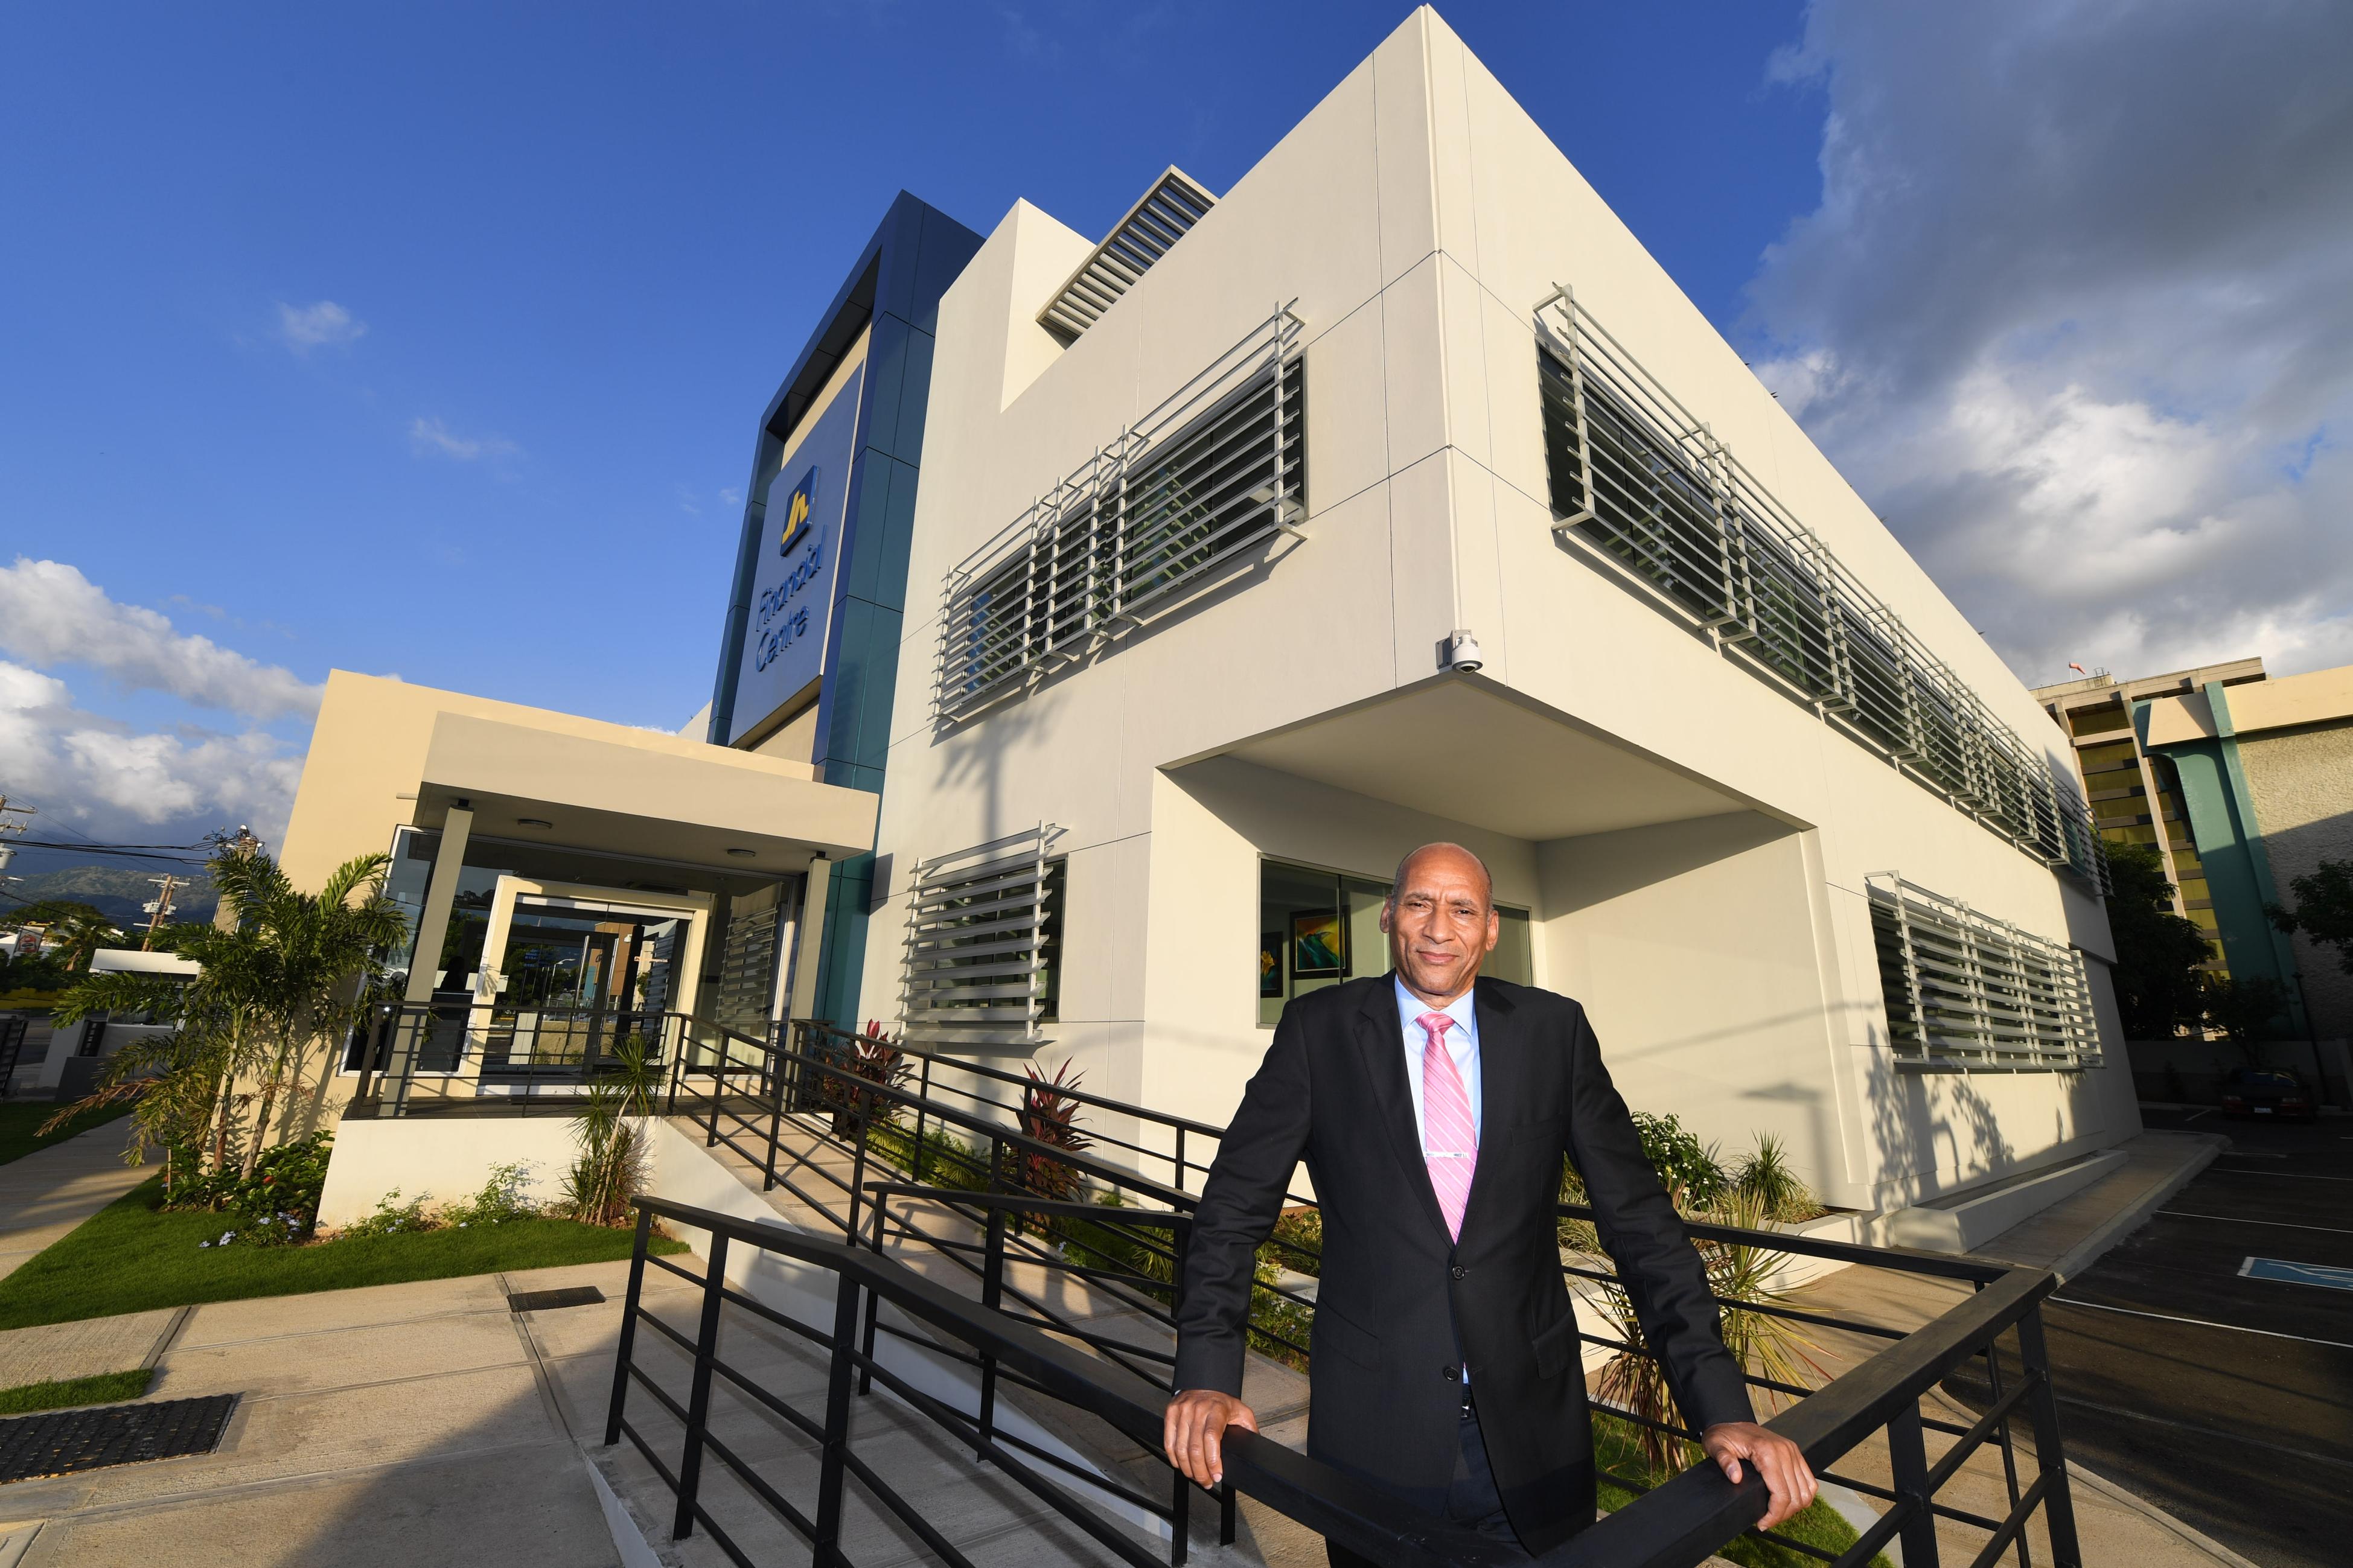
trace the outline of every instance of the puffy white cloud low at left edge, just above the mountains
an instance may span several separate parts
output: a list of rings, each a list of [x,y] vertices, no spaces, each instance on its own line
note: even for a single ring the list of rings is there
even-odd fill
[[[0,659],[0,786],[96,838],[160,824],[254,824],[285,836],[301,756],[261,730],[136,732],[82,713],[66,683]],[[202,831],[202,829],[195,829]]]

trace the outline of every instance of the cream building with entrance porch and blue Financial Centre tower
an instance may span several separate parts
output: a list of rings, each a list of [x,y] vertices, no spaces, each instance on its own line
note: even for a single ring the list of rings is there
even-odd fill
[[[480,702],[339,676],[287,845],[407,857],[456,1081],[692,982],[1221,1123],[1452,838],[1492,972],[1835,1205],[2139,1130],[2071,737],[1428,9],[1108,235],[901,198],[760,419],[708,713]]]

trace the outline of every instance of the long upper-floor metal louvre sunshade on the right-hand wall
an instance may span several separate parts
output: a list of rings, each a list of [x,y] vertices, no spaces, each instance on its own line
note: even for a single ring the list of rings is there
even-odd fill
[[[1995,833],[2106,892],[2071,777],[1993,718],[1567,290],[1537,327],[1558,532]]]

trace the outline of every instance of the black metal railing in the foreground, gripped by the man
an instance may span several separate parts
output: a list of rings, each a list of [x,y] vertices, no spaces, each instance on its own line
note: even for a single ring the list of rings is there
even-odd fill
[[[915,1189],[911,1184],[889,1187],[908,1196],[932,1196],[932,1189]],[[972,1194],[962,1194],[962,1198],[967,1203],[974,1201]],[[1165,1455],[1160,1455],[1165,1387],[1160,1382],[1146,1380],[1132,1368],[1101,1356],[1096,1347],[1068,1344],[1059,1335],[1049,1335],[1042,1326],[1021,1321],[1002,1307],[1000,1288],[1007,1262],[1002,1222],[1016,1210],[1038,1212],[1040,1203],[1019,1194],[998,1194],[981,1203],[998,1220],[984,1243],[988,1253],[984,1276],[993,1281],[993,1288],[984,1290],[981,1300],[972,1300],[871,1248],[826,1241],[774,1224],[734,1220],[659,1198],[640,1198],[638,1245],[631,1260],[628,1302],[614,1361],[605,1441],[619,1443],[628,1439],[671,1490],[675,1502],[673,1537],[685,1537],[701,1526],[732,1561],[753,1563],[736,1540],[746,1521],[722,1521],[704,1493],[704,1464],[706,1460],[715,1460],[734,1476],[744,1495],[812,1544],[814,1563],[849,1561],[842,1554],[840,1528],[845,1488],[854,1481],[868,1497],[899,1519],[925,1549],[953,1568],[967,1568],[967,1559],[955,1542],[946,1540],[885,1474],[856,1453],[852,1398],[868,1394],[880,1382],[887,1394],[948,1431],[960,1448],[969,1448],[979,1460],[1014,1479],[1028,1495],[1073,1521],[1108,1556],[1136,1568],[1158,1568],[1151,1547],[1132,1528],[1122,1528],[1115,1516],[1108,1516],[1099,1502],[1089,1500],[1089,1493],[1118,1497],[1165,1521],[1169,1526],[1169,1563],[1181,1566],[1186,1561],[1191,1488],[1174,1469],[1167,1471],[1167,1502],[1160,1502],[1160,1497],[1125,1486],[1115,1476],[1071,1464],[1061,1455],[1024,1441],[998,1420],[1000,1382],[1014,1384],[1035,1398],[1108,1424],[1127,1441],[1155,1455],[1165,1467]],[[1087,1205],[1047,1205],[1049,1212],[1054,1208],[1085,1210]],[[701,1274],[647,1250],[656,1217],[708,1236]],[[1704,1229],[1722,1231],[1725,1227]],[[1732,1231],[1732,1238],[1746,1241],[1751,1236],[1755,1234]],[[793,1318],[732,1285],[729,1257],[734,1248],[755,1248],[833,1274],[831,1326]],[[1868,1253],[1868,1248],[1857,1250]],[[645,1307],[647,1264],[666,1269],[699,1288],[701,1300],[692,1335]],[[1979,1566],[1993,1563],[2012,1549],[2019,1552],[2019,1561],[2028,1561],[2024,1552],[2026,1521],[2038,1509],[2045,1511],[2054,1561],[2064,1568],[2080,1566],[2066,1469],[2059,1453],[2057,1413],[2035,1318],[2035,1307],[2052,1290],[2054,1281],[2047,1271],[2035,1269],[1984,1271],[1969,1264],[1958,1264],[1958,1269],[1962,1271],[1951,1274],[1953,1278],[1969,1278],[1984,1288],[1925,1328],[1897,1337],[1887,1349],[1847,1375],[1807,1391],[1767,1424],[1795,1441],[1824,1476],[1880,1495],[1889,1504],[1873,1528],[1847,1552],[1835,1554],[1835,1561],[1842,1566],[1868,1563],[1882,1547],[1899,1542],[1906,1566],[1922,1563],[1934,1568],[1939,1563],[1939,1519],[1977,1523],[1988,1530],[1984,1549],[1974,1554],[1974,1563]],[[1993,1274],[1993,1278],[1979,1278],[1981,1274]],[[976,1373],[972,1408],[925,1391],[901,1368],[894,1368],[889,1356],[878,1354],[875,1323],[885,1307],[906,1318],[906,1328],[885,1323],[885,1330],[904,1335],[932,1354],[948,1354]],[[828,1377],[821,1415],[791,1406],[758,1375],[729,1363],[720,1354],[722,1323],[729,1311],[784,1328],[795,1340],[824,1351]],[[640,1328],[652,1328],[689,1358],[685,1389],[666,1389],[654,1370],[642,1363],[638,1354]],[[1887,1333],[1854,1323],[1847,1328]],[[1979,1356],[2005,1330],[2019,1333],[2026,1358],[2021,1375],[2007,1389],[1998,1384],[1993,1408],[1969,1429],[1925,1420],[1918,1406],[1920,1396]],[[671,1417],[671,1431],[654,1434],[640,1420],[631,1417],[628,1398],[633,1389],[642,1389]],[[784,1420],[791,1431],[798,1431],[802,1441],[816,1448],[819,1474],[814,1497],[788,1497],[774,1474],[762,1471],[753,1455],[741,1453],[739,1446],[725,1441],[713,1429],[713,1396],[720,1389],[732,1391],[734,1398],[751,1408]],[[1960,1474],[1967,1457],[1981,1443],[1991,1441],[2021,1406],[2035,1424],[2038,1467],[2024,1488],[2014,1488],[2017,1495],[2009,1514],[2000,1521],[1977,1519],[1934,1502],[1937,1490]],[[1953,1431],[1960,1441],[1937,1460],[1929,1460],[1925,1429]],[[1833,1469],[1838,1460],[1882,1431],[1887,1434],[1894,1462],[1894,1488],[1861,1486],[1854,1476],[1840,1476]],[[664,1446],[661,1439],[668,1439],[675,1448]],[[1271,1439],[1240,1429],[1226,1434],[1226,1483],[1219,1490],[1221,1542],[1233,1540],[1233,1495],[1240,1493],[1257,1497],[1311,1530],[1339,1540],[1344,1547],[1384,1563],[1384,1568],[1426,1568],[1435,1563],[1487,1568],[1492,1563],[1527,1561],[1506,1544],[1466,1535],[1445,1521],[1421,1516],[1377,1488],[1367,1488]],[[1602,1568],[1605,1563],[1612,1568],[1689,1568],[1751,1528],[1762,1511],[1765,1488],[1753,1474],[1734,1486],[1713,1464],[1701,1464],[1647,1490],[1633,1504],[1617,1509],[1591,1530],[1584,1530],[1537,1561],[1544,1568]],[[1784,1549],[1798,1549],[1807,1556],[1826,1561],[1833,1556],[1805,1542],[1772,1540]]]

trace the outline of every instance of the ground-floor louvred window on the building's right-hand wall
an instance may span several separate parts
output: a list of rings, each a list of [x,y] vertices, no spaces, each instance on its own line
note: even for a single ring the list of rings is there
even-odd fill
[[[2101,1064],[2082,954],[1915,888],[1868,878],[1897,1062],[1960,1071]]]

